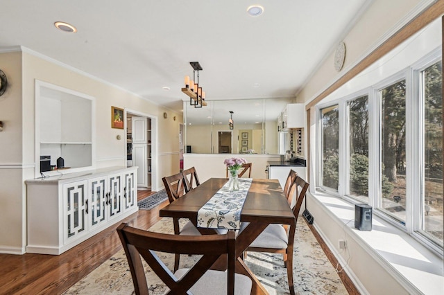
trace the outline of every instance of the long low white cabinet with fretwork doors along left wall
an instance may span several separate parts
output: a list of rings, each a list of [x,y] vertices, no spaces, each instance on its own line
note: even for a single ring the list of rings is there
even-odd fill
[[[137,168],[103,168],[26,181],[26,251],[63,253],[137,212],[136,177]]]

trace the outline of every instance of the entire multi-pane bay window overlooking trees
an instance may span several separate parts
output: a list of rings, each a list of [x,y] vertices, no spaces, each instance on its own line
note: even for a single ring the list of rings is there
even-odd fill
[[[317,186],[370,204],[437,252],[444,227],[440,59],[436,51],[318,112]]]

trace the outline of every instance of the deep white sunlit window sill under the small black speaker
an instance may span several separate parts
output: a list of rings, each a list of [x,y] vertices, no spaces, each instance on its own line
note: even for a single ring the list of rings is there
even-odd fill
[[[355,229],[355,205],[344,199],[322,192],[307,194],[307,197],[309,211],[311,206],[321,206],[350,238],[393,274],[395,280],[398,280],[409,293],[444,294],[443,259],[436,253],[375,215],[373,215],[372,231]],[[323,224],[316,224],[316,215],[314,225],[323,231]],[[337,241],[328,241],[327,244],[329,247],[335,247],[332,252],[336,256],[341,256],[339,254],[341,250],[336,248]],[[362,278],[357,279],[362,280]]]

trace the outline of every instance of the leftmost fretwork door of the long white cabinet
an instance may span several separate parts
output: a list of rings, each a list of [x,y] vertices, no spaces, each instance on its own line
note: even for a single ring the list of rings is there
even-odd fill
[[[87,233],[87,181],[63,184],[65,243]]]

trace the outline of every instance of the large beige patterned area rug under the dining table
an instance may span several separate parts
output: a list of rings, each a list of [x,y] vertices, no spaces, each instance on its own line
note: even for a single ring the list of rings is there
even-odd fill
[[[164,217],[150,231],[172,233],[171,218]],[[163,254],[172,269],[173,255]],[[180,256],[180,267],[189,266],[196,256]],[[289,294],[287,269],[282,255],[249,252],[246,264],[270,294]],[[166,287],[145,265],[150,294],[164,294]],[[293,280],[296,294],[348,294],[334,267],[311,233],[305,220],[298,220],[293,258]],[[134,294],[128,262],[123,250],[78,281],[64,294]]]

